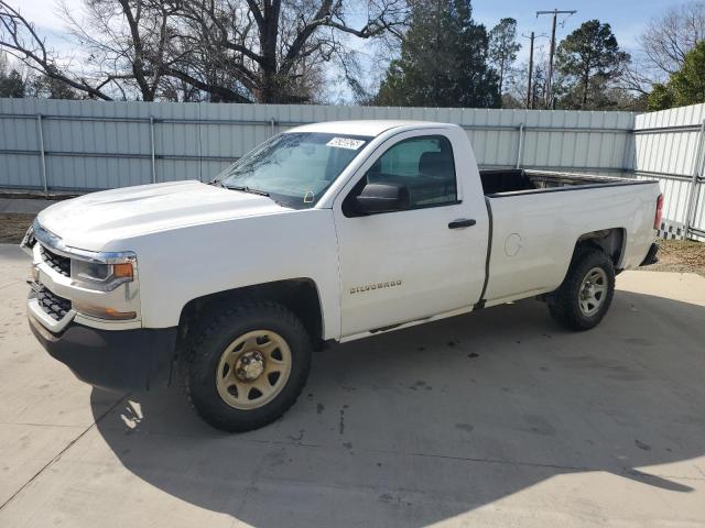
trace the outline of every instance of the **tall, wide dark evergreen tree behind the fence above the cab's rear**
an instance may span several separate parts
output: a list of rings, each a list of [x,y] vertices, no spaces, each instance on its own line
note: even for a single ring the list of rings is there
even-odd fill
[[[401,56],[389,65],[378,105],[499,107],[497,74],[487,66],[488,36],[469,0],[414,0]]]

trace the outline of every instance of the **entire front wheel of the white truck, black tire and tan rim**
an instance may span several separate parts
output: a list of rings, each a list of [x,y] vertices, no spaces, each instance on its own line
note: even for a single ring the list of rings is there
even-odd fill
[[[282,416],[303,389],[311,339],[274,302],[216,314],[193,340],[186,393],[200,417],[224,431],[248,431]]]

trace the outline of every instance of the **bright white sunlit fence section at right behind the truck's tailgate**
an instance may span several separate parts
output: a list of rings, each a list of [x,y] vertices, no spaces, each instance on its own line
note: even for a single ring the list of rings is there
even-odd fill
[[[637,116],[627,153],[627,166],[637,177],[661,184],[664,230],[680,233],[688,223],[692,237],[699,240],[705,240],[704,120],[705,105]]]

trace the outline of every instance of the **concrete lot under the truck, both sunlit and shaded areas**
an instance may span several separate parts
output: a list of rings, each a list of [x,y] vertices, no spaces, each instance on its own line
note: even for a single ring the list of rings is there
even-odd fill
[[[274,425],[91,389],[0,245],[0,526],[704,526],[705,278],[631,272],[567,333],[533,300],[334,346]]]

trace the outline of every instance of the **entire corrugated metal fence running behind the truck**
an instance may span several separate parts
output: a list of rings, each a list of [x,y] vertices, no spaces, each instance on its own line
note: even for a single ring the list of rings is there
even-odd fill
[[[631,112],[0,99],[0,188],[95,190],[209,180],[267,138],[316,121],[462,125],[480,166],[658,178],[664,229],[705,235],[705,106]]]

